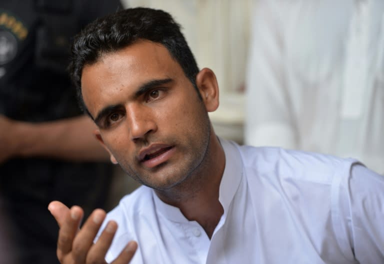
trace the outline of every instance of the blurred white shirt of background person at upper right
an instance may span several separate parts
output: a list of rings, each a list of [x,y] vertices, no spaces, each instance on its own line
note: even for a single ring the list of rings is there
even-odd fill
[[[384,1],[259,0],[252,32],[245,143],[384,174]]]

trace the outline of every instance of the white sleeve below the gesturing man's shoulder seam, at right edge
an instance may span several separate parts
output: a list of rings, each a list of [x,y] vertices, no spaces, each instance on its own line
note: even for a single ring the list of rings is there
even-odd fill
[[[339,198],[342,226],[355,260],[384,263],[384,176],[354,164],[348,179],[340,183]]]

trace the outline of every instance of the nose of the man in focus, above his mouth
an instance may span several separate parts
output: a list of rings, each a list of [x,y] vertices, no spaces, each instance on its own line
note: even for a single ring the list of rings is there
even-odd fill
[[[130,138],[133,141],[144,139],[149,133],[157,130],[152,109],[140,104],[126,106]]]

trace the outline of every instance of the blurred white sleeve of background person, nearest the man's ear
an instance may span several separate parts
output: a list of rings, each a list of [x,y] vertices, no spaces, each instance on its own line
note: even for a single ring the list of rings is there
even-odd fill
[[[245,143],[297,148],[291,93],[284,82],[283,1],[259,0],[246,74]]]

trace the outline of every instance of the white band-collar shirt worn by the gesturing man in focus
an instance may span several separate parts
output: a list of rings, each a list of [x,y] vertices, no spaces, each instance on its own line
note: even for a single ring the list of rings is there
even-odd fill
[[[351,159],[280,148],[225,152],[211,240],[178,208],[140,187],[108,213],[118,223],[106,260],[130,241],[130,264],[384,263],[384,177]],[[351,169],[352,168],[352,169]]]

